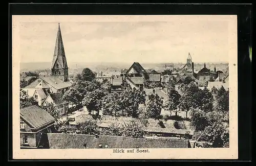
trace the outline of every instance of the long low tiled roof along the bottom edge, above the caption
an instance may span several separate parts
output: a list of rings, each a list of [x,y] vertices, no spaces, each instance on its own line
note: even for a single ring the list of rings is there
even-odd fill
[[[107,148],[190,148],[188,139],[150,139],[122,136],[47,133],[50,149],[98,149]]]

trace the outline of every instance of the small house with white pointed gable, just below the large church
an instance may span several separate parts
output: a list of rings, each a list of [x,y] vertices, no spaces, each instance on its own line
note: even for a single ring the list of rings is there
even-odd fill
[[[44,102],[42,102],[42,105],[47,105],[47,103],[53,103],[57,107],[59,115],[66,114],[69,109],[69,102],[64,101],[62,97],[63,94],[61,92],[49,93],[47,94]]]

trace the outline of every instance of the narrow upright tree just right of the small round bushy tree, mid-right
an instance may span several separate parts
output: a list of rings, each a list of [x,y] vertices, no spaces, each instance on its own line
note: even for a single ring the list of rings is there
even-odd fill
[[[168,100],[164,104],[165,110],[168,110],[172,115],[172,111],[175,111],[175,115],[178,113],[178,105],[180,104],[181,95],[173,88],[168,89]]]

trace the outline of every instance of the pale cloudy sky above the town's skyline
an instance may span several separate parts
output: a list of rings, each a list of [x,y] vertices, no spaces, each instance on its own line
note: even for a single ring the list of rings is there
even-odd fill
[[[228,62],[228,21],[59,21],[69,62]],[[19,25],[20,62],[51,62],[58,21]]]

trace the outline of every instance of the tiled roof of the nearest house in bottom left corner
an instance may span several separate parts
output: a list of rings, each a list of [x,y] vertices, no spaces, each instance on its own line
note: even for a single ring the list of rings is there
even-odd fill
[[[20,117],[35,129],[47,126],[55,121],[52,115],[36,105],[20,109]]]

